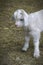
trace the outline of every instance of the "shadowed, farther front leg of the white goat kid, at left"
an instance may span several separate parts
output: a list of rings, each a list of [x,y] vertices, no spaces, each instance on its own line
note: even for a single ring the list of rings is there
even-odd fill
[[[24,32],[25,32],[25,43],[22,48],[22,51],[27,51],[27,49],[29,48],[29,41],[30,41],[30,35],[27,27],[24,27]]]

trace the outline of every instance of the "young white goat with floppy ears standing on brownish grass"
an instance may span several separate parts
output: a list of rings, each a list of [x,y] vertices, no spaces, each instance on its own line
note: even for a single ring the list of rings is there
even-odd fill
[[[23,27],[25,30],[25,44],[22,50],[27,51],[29,40],[32,36],[34,43],[34,57],[38,58],[40,56],[40,33],[43,31],[43,10],[27,14],[23,9],[18,9],[14,12],[13,17],[15,19],[15,25],[17,27]]]

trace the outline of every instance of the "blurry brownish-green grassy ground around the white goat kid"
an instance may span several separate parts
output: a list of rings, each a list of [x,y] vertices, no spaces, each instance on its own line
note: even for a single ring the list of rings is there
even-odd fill
[[[40,58],[33,57],[33,42],[22,52],[24,30],[15,27],[12,15],[22,8],[28,13],[43,9],[43,0],[0,0],[0,65],[43,65],[43,34],[40,39]]]

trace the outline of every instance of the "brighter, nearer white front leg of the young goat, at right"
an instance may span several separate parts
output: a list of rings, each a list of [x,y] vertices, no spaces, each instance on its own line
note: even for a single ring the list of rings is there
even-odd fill
[[[40,50],[39,50],[39,40],[40,40],[40,33],[34,34],[34,57],[38,58],[40,56]]]

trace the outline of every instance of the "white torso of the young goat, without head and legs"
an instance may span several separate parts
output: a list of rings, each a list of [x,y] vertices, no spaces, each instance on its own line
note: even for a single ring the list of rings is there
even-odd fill
[[[29,14],[28,20],[28,27],[31,30],[43,31],[43,10]]]

